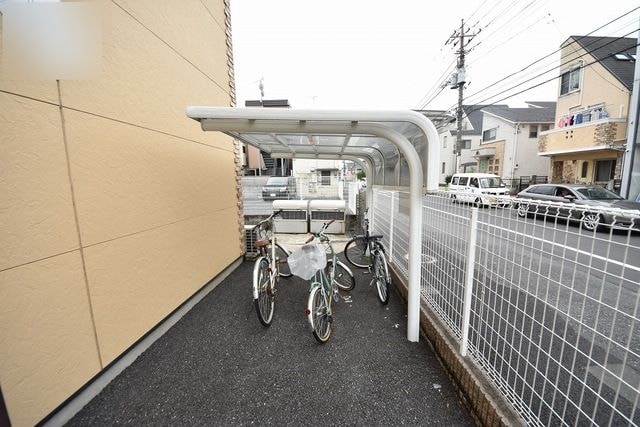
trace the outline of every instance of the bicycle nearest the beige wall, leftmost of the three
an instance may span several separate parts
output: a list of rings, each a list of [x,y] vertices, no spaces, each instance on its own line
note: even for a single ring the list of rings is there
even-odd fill
[[[253,245],[260,252],[253,266],[253,304],[258,320],[265,327],[270,326],[273,320],[279,278],[292,276],[287,264],[289,252],[276,241],[273,224],[273,219],[281,212],[274,212],[253,227],[258,236]]]

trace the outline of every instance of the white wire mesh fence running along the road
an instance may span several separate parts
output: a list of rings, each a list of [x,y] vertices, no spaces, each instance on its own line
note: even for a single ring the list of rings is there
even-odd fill
[[[372,224],[406,276],[404,197],[376,190]],[[469,357],[527,424],[640,425],[640,212],[505,205],[424,197],[423,303],[455,339],[468,337]],[[593,229],[594,212],[610,224]]]

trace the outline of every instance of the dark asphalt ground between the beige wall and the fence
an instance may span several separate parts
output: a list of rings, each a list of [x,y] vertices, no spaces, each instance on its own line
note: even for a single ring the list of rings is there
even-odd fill
[[[319,344],[308,284],[280,281],[263,327],[244,262],[68,425],[474,425],[426,339],[407,341],[406,307],[357,271]]]

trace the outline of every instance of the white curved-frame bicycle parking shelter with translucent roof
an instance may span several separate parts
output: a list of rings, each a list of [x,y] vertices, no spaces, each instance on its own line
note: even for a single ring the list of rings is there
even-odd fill
[[[438,188],[438,133],[422,114],[393,110],[187,108],[203,131],[223,132],[274,158],[351,160],[373,186],[409,187],[407,339],[420,334],[422,194]],[[375,218],[372,218],[374,222]]]

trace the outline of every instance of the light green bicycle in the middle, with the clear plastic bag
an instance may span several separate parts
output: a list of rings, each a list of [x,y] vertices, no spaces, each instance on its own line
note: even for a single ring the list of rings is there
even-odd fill
[[[346,265],[338,260],[337,254],[333,250],[331,240],[324,234],[327,227],[329,227],[333,221],[335,220],[326,222],[320,231],[314,233],[311,238],[305,242],[310,243],[317,238],[321,243],[326,245],[330,255],[330,260],[327,261],[326,267],[316,271],[311,279],[309,301],[306,310],[313,337],[320,343],[325,343],[331,338],[331,325],[333,323],[331,302],[333,300],[338,301],[340,297],[338,289],[351,290],[355,286],[353,273]],[[338,276],[336,274],[338,274]]]

